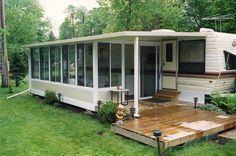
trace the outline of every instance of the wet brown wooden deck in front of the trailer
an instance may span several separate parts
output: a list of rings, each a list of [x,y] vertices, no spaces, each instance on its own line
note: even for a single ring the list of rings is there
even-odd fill
[[[162,148],[180,145],[236,126],[236,118],[219,113],[193,109],[186,105],[161,105],[140,113],[140,118],[123,126],[112,124],[113,132],[156,146],[153,129],[160,128]]]

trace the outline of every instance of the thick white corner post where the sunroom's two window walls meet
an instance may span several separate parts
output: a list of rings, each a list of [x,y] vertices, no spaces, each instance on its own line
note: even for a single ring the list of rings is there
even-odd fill
[[[93,103],[98,102],[98,43],[93,43]],[[95,108],[94,107],[94,108]]]

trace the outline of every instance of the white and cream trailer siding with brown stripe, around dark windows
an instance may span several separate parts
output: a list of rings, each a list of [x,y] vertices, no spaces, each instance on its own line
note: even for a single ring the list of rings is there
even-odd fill
[[[224,50],[235,51],[232,42],[236,39],[234,34],[218,33],[203,30],[206,33],[206,74],[180,75],[178,77],[178,90],[181,92],[179,100],[193,102],[198,97],[200,103],[205,103],[205,95],[213,92],[228,92],[234,89],[235,75],[225,75]]]

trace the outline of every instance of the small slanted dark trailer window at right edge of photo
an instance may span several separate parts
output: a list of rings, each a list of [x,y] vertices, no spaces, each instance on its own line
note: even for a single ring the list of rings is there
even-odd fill
[[[228,51],[224,51],[225,56],[225,69],[235,70],[236,69],[236,56]]]

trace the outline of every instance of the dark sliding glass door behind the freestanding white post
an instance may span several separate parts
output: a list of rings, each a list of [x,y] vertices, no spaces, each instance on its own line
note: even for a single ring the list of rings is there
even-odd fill
[[[140,46],[140,97],[153,96],[156,90],[156,47]]]

